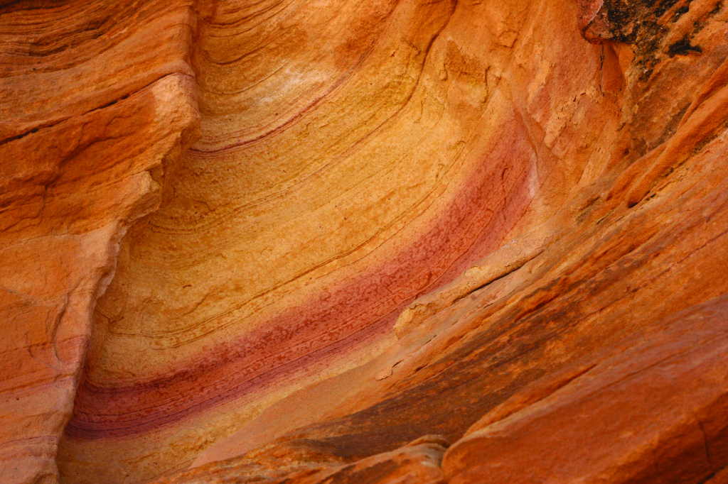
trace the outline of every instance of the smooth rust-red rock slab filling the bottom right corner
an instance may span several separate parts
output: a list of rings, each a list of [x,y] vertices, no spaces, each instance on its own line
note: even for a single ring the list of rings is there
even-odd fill
[[[727,316],[727,297],[692,307],[527,405],[516,394],[448,451],[448,483],[705,482],[728,464]]]

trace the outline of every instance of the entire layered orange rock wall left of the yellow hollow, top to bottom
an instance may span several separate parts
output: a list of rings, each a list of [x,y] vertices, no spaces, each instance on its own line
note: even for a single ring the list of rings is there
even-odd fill
[[[3,483],[58,479],[96,300],[199,122],[178,9],[146,12],[145,30],[121,10],[34,3],[0,7]],[[159,65],[129,56],[149,36]]]

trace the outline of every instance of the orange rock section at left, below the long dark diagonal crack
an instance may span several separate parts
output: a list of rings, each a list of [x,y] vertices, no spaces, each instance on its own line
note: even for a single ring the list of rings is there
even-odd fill
[[[166,76],[127,100],[0,146],[4,483],[58,476],[56,447],[93,308],[127,227],[159,204],[151,173],[184,148],[197,121],[190,84]]]

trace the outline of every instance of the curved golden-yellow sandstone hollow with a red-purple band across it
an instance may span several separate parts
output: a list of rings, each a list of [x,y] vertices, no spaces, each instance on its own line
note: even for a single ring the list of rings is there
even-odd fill
[[[518,1],[323,5],[199,7],[202,134],[96,306],[68,480],[159,477],[371,360],[416,298],[592,176],[587,140],[617,110],[574,6],[547,6],[569,28],[544,50]],[[524,25],[542,33],[517,41]]]

